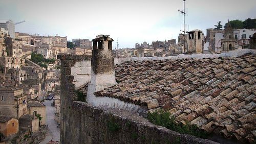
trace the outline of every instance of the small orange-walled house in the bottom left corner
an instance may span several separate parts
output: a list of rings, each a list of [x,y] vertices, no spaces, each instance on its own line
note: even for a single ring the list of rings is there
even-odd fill
[[[18,132],[18,119],[0,115],[0,133],[8,138]],[[4,140],[4,139],[3,139]],[[2,139],[0,138],[0,142]]]

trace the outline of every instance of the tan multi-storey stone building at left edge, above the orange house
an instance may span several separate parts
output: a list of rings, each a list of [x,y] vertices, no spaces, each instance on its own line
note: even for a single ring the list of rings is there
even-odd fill
[[[0,87],[1,115],[19,118],[27,113],[27,97],[23,89],[17,87]]]

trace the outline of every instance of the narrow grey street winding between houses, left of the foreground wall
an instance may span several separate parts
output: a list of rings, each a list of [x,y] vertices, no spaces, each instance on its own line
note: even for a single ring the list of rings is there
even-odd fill
[[[57,127],[57,122],[54,121],[55,107],[51,106],[52,102],[53,100],[45,100],[44,102],[46,105],[48,131],[45,140],[40,142],[41,144],[48,143],[51,140],[57,142],[60,139],[59,128]]]

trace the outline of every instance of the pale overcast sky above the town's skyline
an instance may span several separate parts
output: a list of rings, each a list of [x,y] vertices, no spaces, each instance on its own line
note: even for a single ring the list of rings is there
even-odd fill
[[[189,30],[214,28],[218,21],[256,18],[255,0],[187,0]],[[12,19],[16,32],[93,39],[109,34],[119,47],[176,39],[182,0],[0,0],[0,19]],[[183,25],[183,24],[182,24]]]

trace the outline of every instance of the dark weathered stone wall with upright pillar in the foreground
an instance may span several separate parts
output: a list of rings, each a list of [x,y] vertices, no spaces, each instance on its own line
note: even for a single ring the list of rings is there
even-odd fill
[[[216,143],[156,126],[130,111],[79,102],[71,67],[88,56],[59,55],[61,60],[61,143]]]

